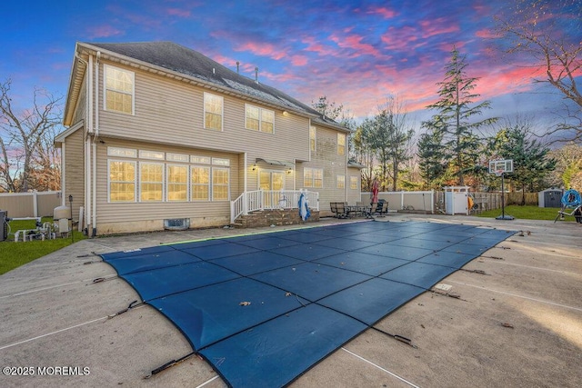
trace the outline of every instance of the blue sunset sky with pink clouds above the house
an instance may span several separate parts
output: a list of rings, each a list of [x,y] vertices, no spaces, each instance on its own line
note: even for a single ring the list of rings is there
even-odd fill
[[[487,116],[535,113],[544,123],[562,104],[531,82],[531,64],[497,50],[494,15],[507,0],[405,1],[14,1],[0,14],[0,81],[17,106],[35,87],[65,95],[75,42],[173,41],[306,104],[326,95],[356,119],[398,95],[419,126],[456,45]],[[548,118],[549,117],[549,118]]]

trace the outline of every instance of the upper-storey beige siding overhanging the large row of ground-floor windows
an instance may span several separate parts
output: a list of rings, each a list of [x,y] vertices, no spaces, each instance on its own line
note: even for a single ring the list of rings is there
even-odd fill
[[[124,68],[123,66],[116,65]],[[245,129],[245,101],[224,97],[223,131],[204,128],[204,92],[194,85],[161,75],[135,71],[135,114],[103,110],[103,65],[100,66],[99,132],[104,136],[138,138],[146,142],[182,144],[239,153],[254,152],[260,157],[291,160],[309,157],[309,120],[282,111],[275,112],[275,133]]]

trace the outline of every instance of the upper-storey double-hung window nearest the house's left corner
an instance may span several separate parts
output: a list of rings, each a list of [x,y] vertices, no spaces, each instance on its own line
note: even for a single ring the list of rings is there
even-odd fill
[[[135,74],[104,65],[105,111],[134,114]]]

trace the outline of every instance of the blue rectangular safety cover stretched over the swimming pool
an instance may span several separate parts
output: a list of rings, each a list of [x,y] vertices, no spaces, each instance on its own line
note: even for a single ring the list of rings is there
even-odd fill
[[[102,254],[234,387],[277,387],[505,240],[358,222]]]

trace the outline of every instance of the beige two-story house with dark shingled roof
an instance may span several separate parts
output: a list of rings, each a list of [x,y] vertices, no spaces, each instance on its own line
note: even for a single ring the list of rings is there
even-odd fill
[[[63,201],[91,235],[360,198],[345,127],[174,43],[77,43],[64,124]]]

